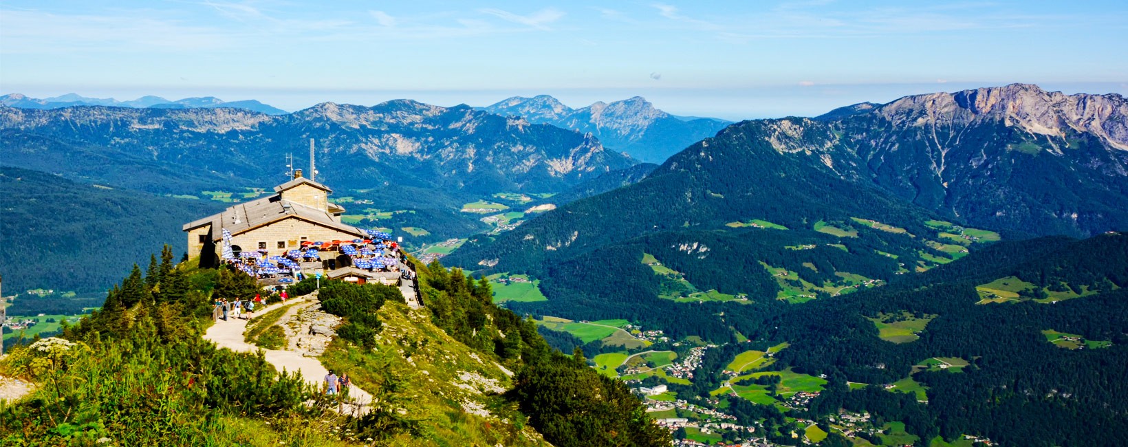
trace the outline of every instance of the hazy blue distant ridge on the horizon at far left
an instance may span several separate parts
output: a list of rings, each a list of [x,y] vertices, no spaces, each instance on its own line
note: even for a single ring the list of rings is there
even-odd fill
[[[265,113],[267,115],[284,115],[290,112],[259,103],[255,99],[226,102],[214,96],[192,97],[178,100],[165,99],[159,96],[142,96],[133,100],[117,100],[114,98],[90,98],[78,94],[67,94],[50,98],[32,98],[21,94],[8,94],[0,96],[0,104],[20,108],[63,108],[73,106],[107,106],[107,107],[133,107],[133,108],[193,108],[193,107],[230,107],[243,108],[253,112]]]

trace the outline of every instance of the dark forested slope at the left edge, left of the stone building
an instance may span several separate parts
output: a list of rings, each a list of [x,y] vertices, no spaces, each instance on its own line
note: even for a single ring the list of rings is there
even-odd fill
[[[105,291],[166,242],[184,253],[180,225],[222,208],[10,167],[0,167],[0,191],[7,293]]]

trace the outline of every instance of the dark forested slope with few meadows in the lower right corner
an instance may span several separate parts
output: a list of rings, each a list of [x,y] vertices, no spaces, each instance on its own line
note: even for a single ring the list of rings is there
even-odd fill
[[[1003,297],[1007,291],[996,288],[1008,287],[999,284],[1015,292]],[[775,368],[827,375],[832,386],[811,403],[812,418],[846,406],[900,419],[922,439],[976,433],[1005,446],[1122,445],[1126,291],[1128,235],[1041,238],[1001,243],[888,287],[749,318],[756,328],[742,331],[791,343]],[[896,315],[924,321],[919,339],[879,331],[876,322]],[[937,358],[969,365],[923,362]],[[870,385],[849,391],[845,380]],[[881,389],[898,382],[920,384],[917,397]]]

